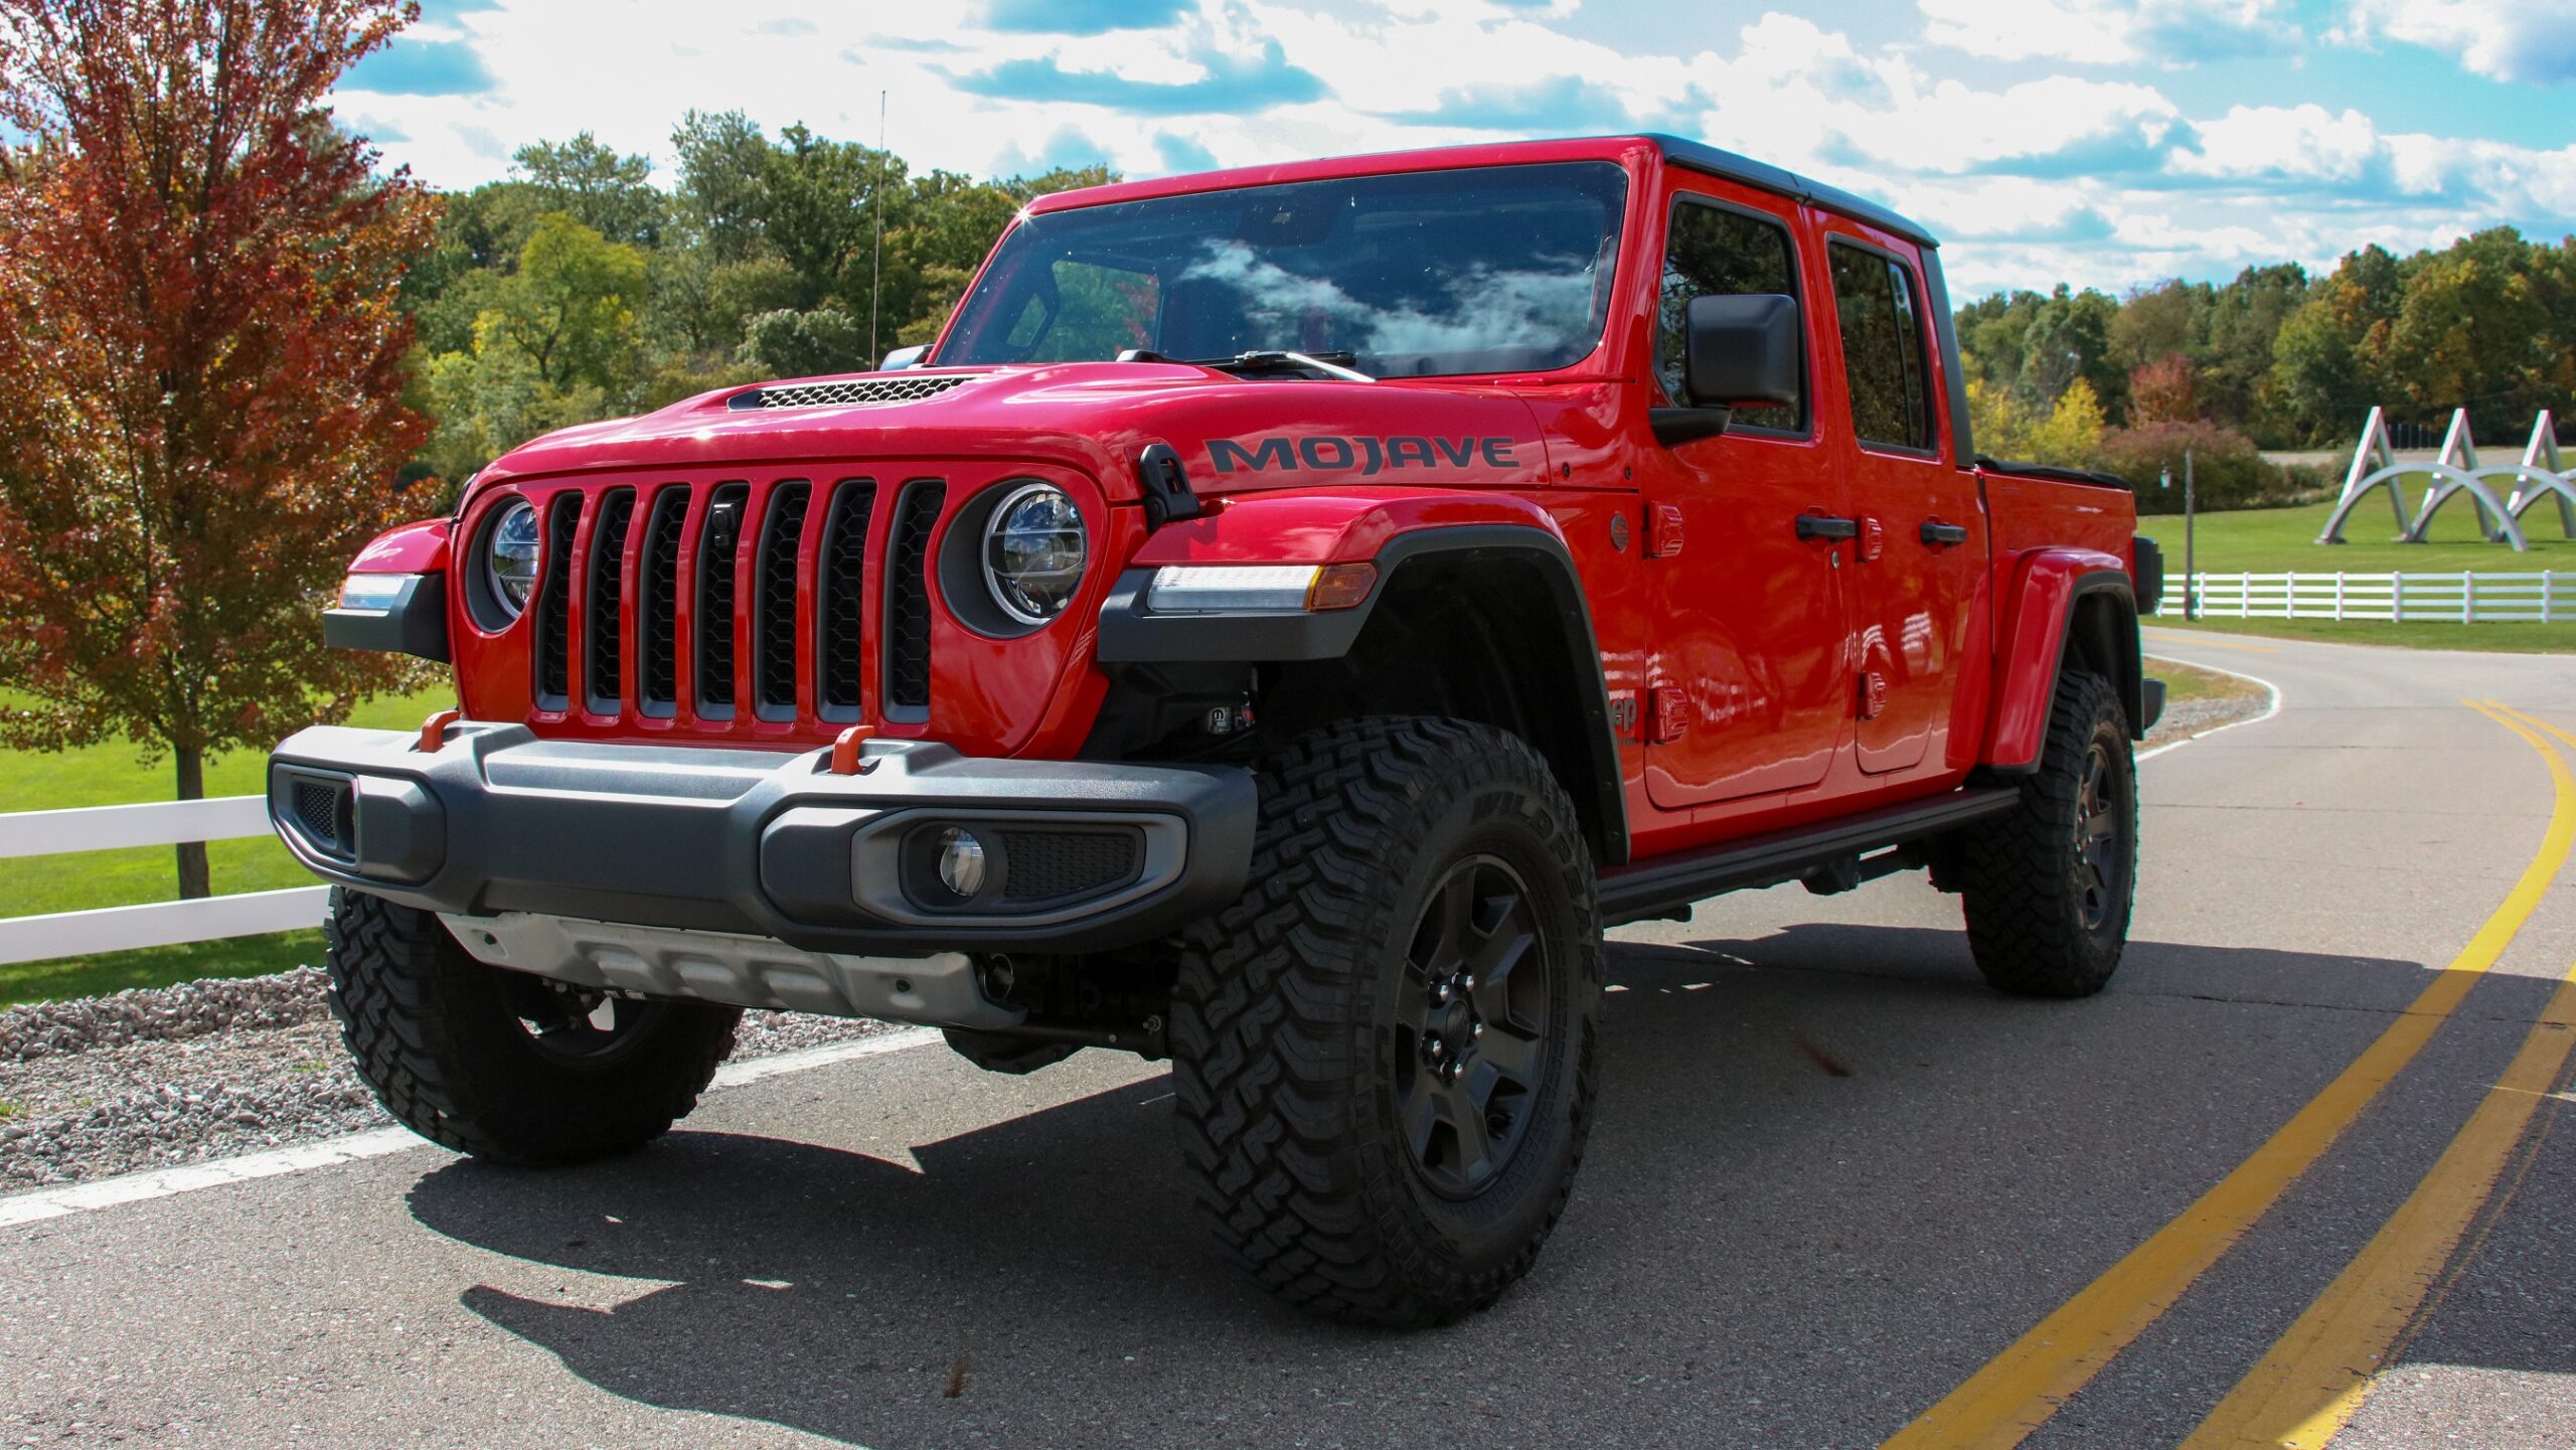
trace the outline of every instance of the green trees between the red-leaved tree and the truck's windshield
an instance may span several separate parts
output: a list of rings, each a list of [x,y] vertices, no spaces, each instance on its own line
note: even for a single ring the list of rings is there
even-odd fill
[[[582,131],[443,196],[402,283],[412,479],[453,489],[518,443],[696,391],[873,368],[927,343],[1033,196],[1105,167],[976,180],[806,126],[690,111],[670,183]]]

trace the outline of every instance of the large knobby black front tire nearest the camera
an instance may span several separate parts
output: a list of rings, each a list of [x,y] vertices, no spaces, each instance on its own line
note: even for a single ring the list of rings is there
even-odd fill
[[[1316,729],[1260,786],[1252,886],[1180,940],[1172,1082],[1200,1216],[1265,1288],[1332,1319],[1484,1308],[1538,1259],[1592,1125],[1602,937],[1574,804],[1520,739],[1440,719]],[[1399,1133],[1419,1069],[1396,1043],[1427,1043],[1391,1010],[1419,999],[1406,958],[1435,889],[1476,863],[1525,886],[1512,899],[1553,1012],[1530,1043],[1553,1056],[1528,1071],[1543,1087],[1517,1100],[1517,1146],[1461,1200]]]

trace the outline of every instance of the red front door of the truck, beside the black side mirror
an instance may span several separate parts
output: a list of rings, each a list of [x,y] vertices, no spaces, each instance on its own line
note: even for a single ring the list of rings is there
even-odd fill
[[[1785,206],[1785,203],[1783,203]],[[1808,366],[1790,407],[1736,410],[1721,438],[1646,451],[1654,598],[1646,796],[1690,809],[1824,780],[1850,719],[1847,546],[1798,515],[1847,515],[1844,469],[1814,420],[1816,325],[1790,227],[1757,193],[1672,201],[1656,386],[1682,391],[1682,317],[1703,294],[1798,299]]]

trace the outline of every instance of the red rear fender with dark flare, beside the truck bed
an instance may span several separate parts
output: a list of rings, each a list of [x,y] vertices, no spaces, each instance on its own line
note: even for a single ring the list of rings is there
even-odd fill
[[[1996,631],[1994,716],[1978,762],[1996,775],[2040,767],[2048,713],[2058,698],[2066,636],[2076,608],[2107,595],[2120,626],[2112,639],[2112,688],[2128,711],[2130,737],[2146,737],[2146,670],[2138,659],[2138,595],[2128,564],[2094,549],[2032,549],[2020,556]]]

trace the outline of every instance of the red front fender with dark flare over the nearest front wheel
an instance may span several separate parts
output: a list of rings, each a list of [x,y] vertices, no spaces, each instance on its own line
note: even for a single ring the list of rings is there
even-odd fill
[[[1610,688],[1582,574],[1548,513],[1507,494],[1453,489],[1337,489],[1226,500],[1206,518],[1164,525],[1118,574],[1100,610],[1103,664],[1262,664],[1340,659],[1360,641],[1378,600],[1406,564],[1517,561],[1533,567],[1548,595],[1556,644],[1574,667],[1587,783],[1600,824],[1602,865],[1628,860],[1628,801],[1620,788]],[[1146,608],[1154,569],[1164,564],[1376,564],[1368,598],[1345,610],[1157,616]],[[1533,641],[1543,644],[1543,641]]]

